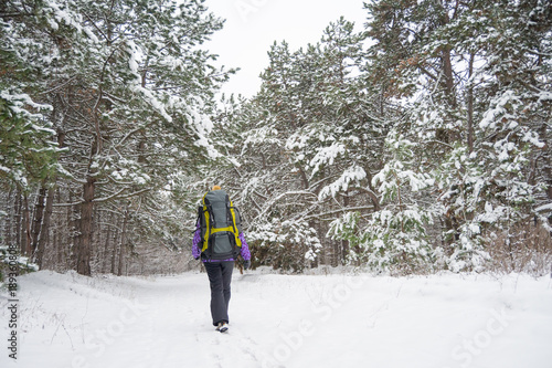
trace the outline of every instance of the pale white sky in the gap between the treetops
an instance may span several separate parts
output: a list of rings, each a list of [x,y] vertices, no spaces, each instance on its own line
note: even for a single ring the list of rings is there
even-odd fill
[[[219,54],[220,65],[241,67],[222,92],[253,96],[261,86],[258,75],[268,66],[267,52],[283,40],[295,51],[320,41],[330,22],[343,15],[360,31],[367,12],[362,0],[206,0],[209,10],[226,19],[224,29],[206,43]]]

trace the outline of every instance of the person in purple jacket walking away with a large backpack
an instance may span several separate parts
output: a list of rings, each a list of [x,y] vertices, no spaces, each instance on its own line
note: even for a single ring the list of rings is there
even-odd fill
[[[203,261],[211,284],[213,326],[224,333],[230,322],[230,284],[234,261],[241,255],[247,270],[251,266],[251,253],[241,230],[240,212],[219,186],[203,196],[192,241],[192,255]]]

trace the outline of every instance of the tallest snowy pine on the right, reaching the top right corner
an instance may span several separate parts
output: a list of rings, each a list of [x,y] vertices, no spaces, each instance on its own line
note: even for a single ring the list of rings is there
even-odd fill
[[[550,114],[539,56],[550,6],[390,0],[368,9],[370,67],[403,101],[407,118],[397,128],[433,167],[443,252],[452,269],[480,267],[489,236],[524,221],[540,187],[535,154],[546,137],[531,111]]]

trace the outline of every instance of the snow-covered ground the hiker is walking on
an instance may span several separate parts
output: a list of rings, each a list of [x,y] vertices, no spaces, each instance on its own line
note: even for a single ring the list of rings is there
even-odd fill
[[[550,277],[235,272],[229,334],[204,273],[18,284],[18,359],[4,292],[0,367],[552,367]]]

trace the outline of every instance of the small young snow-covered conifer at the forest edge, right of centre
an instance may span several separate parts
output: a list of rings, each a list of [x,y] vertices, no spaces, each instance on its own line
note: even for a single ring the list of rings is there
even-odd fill
[[[384,204],[367,217],[346,213],[331,223],[329,235],[347,240],[351,261],[378,271],[413,273],[425,270],[432,261],[425,224],[431,215],[412,200],[412,192],[433,183],[414,161],[415,146],[395,132],[386,139],[393,158],[373,177]]]

